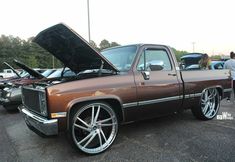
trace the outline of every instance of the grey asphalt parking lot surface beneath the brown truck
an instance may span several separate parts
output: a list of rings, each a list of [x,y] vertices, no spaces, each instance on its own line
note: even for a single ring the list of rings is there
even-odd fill
[[[66,134],[39,137],[0,106],[0,161],[235,161],[235,103],[222,101],[222,112],[233,119],[199,121],[186,111],[123,125],[109,150],[87,156]]]

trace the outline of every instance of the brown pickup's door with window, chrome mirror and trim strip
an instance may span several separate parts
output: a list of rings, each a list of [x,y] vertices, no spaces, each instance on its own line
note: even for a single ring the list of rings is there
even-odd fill
[[[144,47],[134,68],[138,105],[144,118],[162,116],[180,108],[182,95],[168,48]]]

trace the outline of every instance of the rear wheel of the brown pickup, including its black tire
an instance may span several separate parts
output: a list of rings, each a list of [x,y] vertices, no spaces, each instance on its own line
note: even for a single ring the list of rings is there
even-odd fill
[[[193,107],[193,115],[201,120],[213,119],[220,108],[220,95],[216,88],[208,88],[202,92],[200,103]]]

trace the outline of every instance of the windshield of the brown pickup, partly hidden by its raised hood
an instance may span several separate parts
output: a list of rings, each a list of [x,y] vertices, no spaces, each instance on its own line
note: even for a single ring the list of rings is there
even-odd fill
[[[128,71],[134,61],[137,46],[125,46],[108,49],[101,54],[108,59],[119,71]]]

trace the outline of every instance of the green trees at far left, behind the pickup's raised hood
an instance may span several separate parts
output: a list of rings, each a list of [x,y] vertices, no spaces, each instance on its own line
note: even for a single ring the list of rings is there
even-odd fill
[[[33,68],[52,68],[52,55],[32,42],[33,37],[27,41],[19,37],[0,37],[0,69],[8,68],[3,62],[17,67],[13,60],[17,59]],[[61,62],[55,59],[55,68],[61,67]]]

